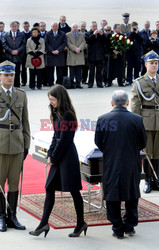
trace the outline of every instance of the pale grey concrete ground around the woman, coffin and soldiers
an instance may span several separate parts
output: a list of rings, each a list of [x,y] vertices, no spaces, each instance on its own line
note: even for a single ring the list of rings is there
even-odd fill
[[[79,125],[90,119],[96,121],[98,116],[111,110],[110,100],[114,90],[119,89],[116,83],[111,88],[88,89],[83,85],[84,89],[69,90],[70,97],[77,112]],[[41,119],[49,118],[48,109],[48,87],[42,90],[32,91],[28,86],[23,87],[28,96],[29,119],[31,125],[31,133],[34,135],[40,130]],[[131,96],[131,87],[122,88]],[[81,121],[82,120],[82,121]],[[31,143],[30,154],[34,152],[33,141]],[[159,205],[159,192],[152,191],[150,194],[143,193],[144,181],[141,181],[141,197]],[[39,223],[28,213],[18,211],[19,221],[27,228],[26,231],[18,231],[8,229],[5,233],[0,233],[0,250],[157,250],[159,222],[139,223],[136,227],[136,234],[133,237],[125,237],[117,240],[112,237],[111,226],[89,227],[87,236],[82,233],[79,238],[69,238],[67,235],[72,229],[54,230],[51,228],[47,238],[43,238],[44,234],[39,237],[29,235],[30,230],[34,230]]]

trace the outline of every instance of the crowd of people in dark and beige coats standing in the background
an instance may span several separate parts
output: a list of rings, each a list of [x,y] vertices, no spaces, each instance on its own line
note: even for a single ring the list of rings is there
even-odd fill
[[[25,21],[22,32],[18,21],[10,24],[9,32],[0,22],[0,61],[15,63],[15,87],[27,84],[27,68],[32,90],[65,81],[69,81],[69,88],[80,89],[81,83],[92,88],[94,80],[99,88],[112,86],[114,79],[119,86],[131,85],[140,72],[146,72],[141,56],[150,50],[159,53],[159,21],[155,30],[150,30],[150,22],[146,21],[139,31],[137,22],[129,23],[129,15],[124,13],[123,23],[113,27],[106,20],[100,22],[100,27],[92,21],[89,31],[85,21],[70,27],[65,16],[59,23],[52,23],[48,32],[44,22],[34,23],[30,29]],[[111,46],[113,33],[124,34],[133,45],[121,54]]]

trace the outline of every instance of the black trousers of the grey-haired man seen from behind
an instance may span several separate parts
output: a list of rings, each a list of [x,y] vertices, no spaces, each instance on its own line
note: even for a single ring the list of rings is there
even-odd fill
[[[106,201],[107,218],[118,236],[130,232],[138,224],[138,199],[125,201],[125,214],[121,217],[121,201]]]

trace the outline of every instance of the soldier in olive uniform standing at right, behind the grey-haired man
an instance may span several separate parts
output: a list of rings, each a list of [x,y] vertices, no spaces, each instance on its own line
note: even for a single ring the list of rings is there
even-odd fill
[[[146,151],[158,177],[154,179],[148,161],[144,160],[146,178],[143,191],[150,193],[151,189],[159,190],[159,56],[151,50],[142,59],[147,72],[133,84],[131,110],[143,117],[147,134]]]

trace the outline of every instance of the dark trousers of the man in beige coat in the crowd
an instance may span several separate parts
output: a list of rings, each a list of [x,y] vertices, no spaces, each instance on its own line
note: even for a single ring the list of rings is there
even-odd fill
[[[80,86],[81,80],[82,80],[82,66],[69,66],[70,69],[70,78],[71,78],[71,84],[76,84],[76,86]],[[74,80],[76,82],[74,82]]]

